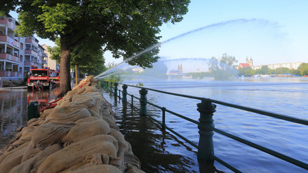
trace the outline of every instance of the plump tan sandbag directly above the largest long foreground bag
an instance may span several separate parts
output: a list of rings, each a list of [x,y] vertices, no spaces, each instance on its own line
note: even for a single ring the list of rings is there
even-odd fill
[[[82,133],[80,133],[82,131]],[[106,135],[110,127],[105,120],[95,120],[77,124],[63,137],[62,142],[78,142],[94,135]]]

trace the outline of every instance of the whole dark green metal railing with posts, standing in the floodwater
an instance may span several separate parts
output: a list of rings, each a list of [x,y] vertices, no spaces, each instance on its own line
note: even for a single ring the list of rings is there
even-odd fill
[[[118,90],[118,84],[122,85],[123,90]],[[216,100],[213,100],[213,99],[210,99],[210,98],[188,96],[188,95],[185,95],[185,94],[176,94],[176,93],[172,93],[172,92],[164,92],[164,91],[160,91],[160,90],[153,90],[151,88],[143,88],[143,87],[134,86],[134,85],[127,85],[125,83],[112,83],[112,82],[108,82],[108,81],[99,81],[99,85],[101,85],[102,88],[105,88],[106,90],[109,90],[110,92],[114,93],[114,96],[117,96],[118,98],[121,98],[120,92],[122,92],[122,101],[125,102],[125,103],[128,103],[132,107],[135,107],[136,109],[138,109],[140,116],[147,116],[147,117],[151,118],[151,120],[153,120],[153,121],[157,122],[158,124],[162,125],[162,127],[164,129],[168,129],[168,131],[171,131],[172,133],[174,133],[175,135],[177,135],[178,137],[183,139],[185,142],[188,142],[189,144],[194,146],[198,150],[197,157],[198,157],[198,160],[200,160],[200,161],[214,161],[214,160],[216,160],[219,163],[221,163],[222,165],[229,168],[230,170],[233,170],[233,172],[240,172],[240,170],[233,168],[233,166],[231,166],[228,163],[222,161],[221,159],[219,159],[218,157],[216,157],[214,155],[213,135],[214,135],[214,131],[215,131],[216,133],[220,133],[221,135],[224,135],[226,137],[234,139],[238,142],[241,142],[242,144],[246,144],[248,146],[251,146],[253,148],[261,150],[262,152],[266,152],[266,153],[268,153],[268,154],[270,154],[274,157],[277,157],[279,159],[283,159],[284,161],[287,161],[289,163],[297,165],[300,168],[304,168],[305,170],[308,170],[308,164],[304,163],[303,161],[299,161],[299,160],[294,159],[292,157],[288,157],[288,156],[283,155],[283,154],[276,152],[274,150],[270,150],[269,148],[265,148],[264,146],[260,146],[258,144],[253,143],[253,142],[249,142],[248,140],[243,139],[241,137],[237,137],[235,135],[232,135],[231,133],[227,133],[227,132],[222,131],[220,129],[216,129],[214,127],[214,123],[213,123],[214,122],[213,114],[216,111],[216,105],[214,103],[216,103],[218,105],[224,105],[224,106],[227,106],[227,107],[233,107],[235,109],[241,109],[241,110],[244,110],[244,111],[253,112],[253,113],[256,113],[256,114],[261,114],[261,115],[264,115],[264,116],[270,116],[272,118],[278,118],[278,119],[281,119],[281,120],[294,122],[294,123],[297,123],[297,124],[303,124],[303,125],[306,125],[306,126],[308,125],[307,120],[303,120],[303,119],[300,119],[300,118],[294,118],[294,117],[291,117],[291,116],[285,116],[283,114],[275,114],[275,113],[272,113],[272,112],[269,112],[269,111],[263,111],[263,110],[260,110],[260,109],[253,109],[251,107],[233,105],[231,103],[216,101]],[[141,90],[139,90],[140,97],[133,96],[132,94],[128,94],[127,93],[128,87],[140,88],[141,89]],[[199,121],[192,120],[191,118],[182,116],[181,114],[177,114],[173,111],[166,109],[166,107],[160,107],[158,105],[155,105],[153,103],[148,102],[147,99],[146,99],[146,94],[148,93],[148,90],[151,90],[153,92],[163,93],[163,94],[170,94],[170,95],[173,95],[173,96],[181,96],[181,97],[185,97],[185,98],[192,98],[192,99],[196,99],[196,100],[201,101],[201,103],[197,104],[197,107],[198,107],[197,110],[200,112]],[[127,101],[127,96],[131,97],[130,103],[129,103],[129,101]],[[140,101],[140,108],[133,105],[133,99],[134,98]],[[155,118],[147,115],[147,109],[146,109],[147,104],[152,105],[153,107],[157,107],[158,109],[162,110],[162,121],[156,120]],[[172,129],[170,129],[169,127],[166,126],[166,123],[165,123],[166,112],[173,114],[175,116],[178,116],[179,118],[183,118],[185,120],[188,120],[188,121],[190,121],[194,124],[198,124],[198,129],[199,129],[198,133],[200,135],[198,145],[194,144],[189,139],[186,139],[181,134],[177,133],[176,131],[173,131]]]

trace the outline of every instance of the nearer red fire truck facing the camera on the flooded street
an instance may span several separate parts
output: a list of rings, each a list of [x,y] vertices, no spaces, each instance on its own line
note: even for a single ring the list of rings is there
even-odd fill
[[[28,78],[28,89],[32,90],[43,90],[43,88],[49,88],[49,68],[37,68],[31,66]]]

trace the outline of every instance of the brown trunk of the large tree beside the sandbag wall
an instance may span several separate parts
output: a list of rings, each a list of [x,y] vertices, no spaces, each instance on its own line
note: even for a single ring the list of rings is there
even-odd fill
[[[61,42],[61,59],[60,59],[60,94],[58,97],[64,96],[70,87],[70,49],[64,38],[60,38]]]

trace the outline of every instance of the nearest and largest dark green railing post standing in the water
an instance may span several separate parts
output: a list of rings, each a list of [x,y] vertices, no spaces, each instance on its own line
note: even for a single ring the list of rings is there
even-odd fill
[[[213,113],[216,111],[216,105],[209,101],[202,100],[197,104],[198,111],[200,112],[200,118],[198,123],[199,129],[199,144],[198,144],[198,160],[201,161],[214,161],[214,144],[213,135],[214,132],[211,129],[214,127]]]

